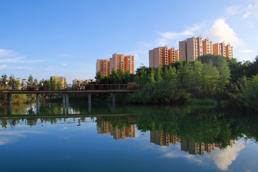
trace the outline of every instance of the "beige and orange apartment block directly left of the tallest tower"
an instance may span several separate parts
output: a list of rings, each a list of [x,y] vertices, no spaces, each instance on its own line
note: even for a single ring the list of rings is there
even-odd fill
[[[179,50],[175,50],[174,47],[169,49],[168,46],[164,46],[149,50],[149,67],[162,67],[163,64],[168,65],[178,60]]]

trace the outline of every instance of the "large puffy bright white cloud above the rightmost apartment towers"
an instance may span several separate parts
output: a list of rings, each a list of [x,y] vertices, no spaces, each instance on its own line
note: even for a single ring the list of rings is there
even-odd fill
[[[226,44],[230,42],[231,45],[240,46],[241,44],[243,44],[243,40],[239,39],[236,36],[234,30],[225,23],[225,19],[223,18],[217,19],[214,22],[208,32],[208,35],[213,43],[220,43],[225,41]]]

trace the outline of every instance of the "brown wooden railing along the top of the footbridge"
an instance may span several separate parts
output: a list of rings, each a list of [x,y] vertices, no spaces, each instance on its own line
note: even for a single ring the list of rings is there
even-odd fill
[[[141,84],[80,84],[81,90],[137,90],[142,89],[146,85]],[[15,85],[15,90],[40,90],[41,84],[36,84],[36,87],[32,87],[31,84],[19,84]],[[44,84],[43,90],[64,90],[67,88],[66,84]],[[72,86],[73,90],[78,89],[78,85]],[[0,90],[12,90],[12,85],[0,85]]]

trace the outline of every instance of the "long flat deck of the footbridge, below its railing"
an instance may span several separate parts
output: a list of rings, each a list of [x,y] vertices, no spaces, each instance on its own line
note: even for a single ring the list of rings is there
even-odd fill
[[[0,94],[83,94],[83,93],[125,93],[136,90],[112,89],[112,90],[0,90]]]

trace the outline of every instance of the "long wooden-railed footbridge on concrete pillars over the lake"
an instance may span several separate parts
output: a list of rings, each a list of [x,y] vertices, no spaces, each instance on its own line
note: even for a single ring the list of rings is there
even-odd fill
[[[115,104],[115,94],[116,93],[132,93],[138,89],[141,89],[145,85],[139,85],[135,83],[128,84],[85,84],[81,87],[83,89],[65,89],[62,84],[45,84],[43,90],[40,89],[40,84],[34,84],[33,87],[30,85],[17,85],[14,90],[10,90],[10,86],[8,85],[7,89],[3,89],[4,87],[0,85],[0,94],[7,94],[7,105],[10,108],[12,104],[12,94],[36,94],[36,103],[39,104],[39,95],[40,94],[62,94],[62,103],[69,103],[69,94],[85,94],[88,93],[88,103],[89,107],[91,104],[91,93],[94,94],[102,94],[102,93],[112,93],[112,101]],[[29,87],[30,86],[30,87]],[[57,89],[58,86],[61,89]],[[62,89],[64,88],[64,89]],[[75,88],[75,87],[74,87]]]

